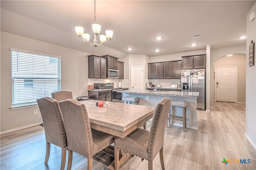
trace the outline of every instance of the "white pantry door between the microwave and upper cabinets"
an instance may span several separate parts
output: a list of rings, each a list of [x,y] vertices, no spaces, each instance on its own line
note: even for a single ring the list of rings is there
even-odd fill
[[[131,87],[134,91],[143,90],[143,66],[131,66]]]

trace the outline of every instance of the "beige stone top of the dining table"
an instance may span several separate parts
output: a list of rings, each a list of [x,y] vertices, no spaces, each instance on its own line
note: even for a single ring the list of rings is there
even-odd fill
[[[106,102],[106,107],[97,107],[98,100],[84,100],[91,123],[126,131],[136,123],[154,114],[154,107]]]

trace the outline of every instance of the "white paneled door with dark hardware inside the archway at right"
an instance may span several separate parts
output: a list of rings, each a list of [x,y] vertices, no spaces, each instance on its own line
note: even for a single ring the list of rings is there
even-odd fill
[[[216,101],[236,102],[236,67],[216,68]]]

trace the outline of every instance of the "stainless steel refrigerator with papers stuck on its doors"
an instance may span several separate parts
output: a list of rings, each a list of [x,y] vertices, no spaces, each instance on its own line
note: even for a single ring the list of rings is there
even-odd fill
[[[197,109],[206,108],[206,69],[181,70],[181,91],[199,92],[197,98]]]

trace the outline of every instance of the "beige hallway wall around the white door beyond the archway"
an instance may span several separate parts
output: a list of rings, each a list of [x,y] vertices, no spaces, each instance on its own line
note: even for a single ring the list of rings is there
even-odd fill
[[[246,97],[246,55],[234,54],[231,57],[221,57],[214,62],[216,67],[237,66],[237,102],[245,103]],[[215,98],[215,88],[214,98]]]

